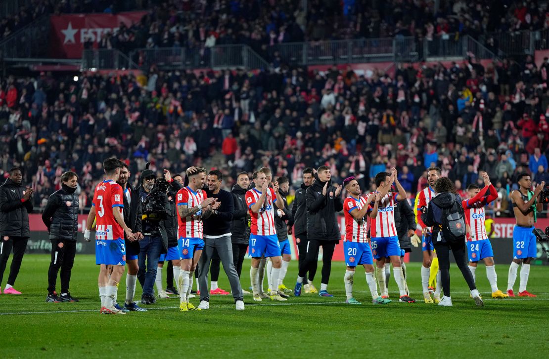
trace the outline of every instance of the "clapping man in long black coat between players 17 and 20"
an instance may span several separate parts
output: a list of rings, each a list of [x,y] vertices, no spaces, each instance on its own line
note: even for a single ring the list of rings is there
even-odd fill
[[[295,284],[294,295],[301,295],[301,285],[305,277],[305,268],[318,258],[318,251],[322,246],[322,281],[320,284],[321,297],[333,297],[328,293],[328,281],[332,271],[332,256],[335,244],[339,243],[341,234],[335,219],[335,212],[343,209],[343,201],[339,196],[341,186],[332,185],[332,173],[327,166],[317,169],[317,180],[305,193],[307,203],[307,257],[306,264],[300,269],[298,282]]]

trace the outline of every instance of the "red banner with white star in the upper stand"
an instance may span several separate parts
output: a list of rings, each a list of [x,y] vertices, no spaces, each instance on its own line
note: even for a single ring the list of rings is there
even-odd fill
[[[52,58],[81,59],[86,38],[91,38],[93,47],[106,33],[114,33],[120,24],[130,27],[139,22],[146,12],[112,14],[76,14],[51,16],[49,39]]]

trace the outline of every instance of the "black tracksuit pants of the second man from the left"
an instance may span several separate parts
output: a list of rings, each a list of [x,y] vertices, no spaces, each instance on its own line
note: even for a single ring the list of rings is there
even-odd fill
[[[70,274],[76,255],[76,241],[52,240],[52,260],[48,269],[48,294],[55,292],[57,273],[61,269],[61,292],[69,292]]]

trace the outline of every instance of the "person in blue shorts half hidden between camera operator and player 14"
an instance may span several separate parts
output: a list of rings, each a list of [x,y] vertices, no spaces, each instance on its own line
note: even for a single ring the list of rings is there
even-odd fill
[[[170,213],[176,213],[177,208],[175,205],[175,198],[177,191],[183,188],[183,178],[181,175],[176,174],[171,177],[169,170],[164,170],[164,178],[167,183],[170,184],[168,187],[168,202],[170,203]],[[156,290],[158,290],[158,295],[160,298],[170,298],[168,294],[179,295],[179,288],[173,288],[173,278],[179,278],[181,272],[181,263],[180,255],[177,249],[177,217],[167,216],[164,220],[164,227],[166,228],[166,234],[168,236],[168,250],[166,254],[160,255],[160,261],[158,262],[158,267],[156,268]],[[166,290],[162,289],[162,269],[164,267],[164,261],[168,262],[166,268]],[[179,286],[179,281],[176,282],[176,286]]]

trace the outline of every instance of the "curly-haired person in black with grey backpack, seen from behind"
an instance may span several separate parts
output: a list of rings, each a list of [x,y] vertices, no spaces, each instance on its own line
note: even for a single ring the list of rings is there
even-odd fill
[[[425,225],[433,227],[433,244],[438,253],[440,278],[444,291],[444,297],[439,305],[452,306],[450,297],[450,250],[452,250],[456,264],[469,286],[471,297],[477,306],[483,306],[484,302],[480,298],[473,275],[467,266],[465,240],[466,232],[470,230],[465,220],[461,197],[456,193],[452,180],[447,177],[436,180],[434,190],[437,194],[429,202],[428,208],[422,207],[421,219]],[[449,218],[452,219],[452,224]]]

